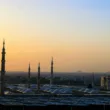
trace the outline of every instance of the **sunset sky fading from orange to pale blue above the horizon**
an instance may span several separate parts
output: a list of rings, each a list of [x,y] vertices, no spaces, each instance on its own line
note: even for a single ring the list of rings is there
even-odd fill
[[[6,71],[110,71],[110,0],[0,0],[3,39]]]

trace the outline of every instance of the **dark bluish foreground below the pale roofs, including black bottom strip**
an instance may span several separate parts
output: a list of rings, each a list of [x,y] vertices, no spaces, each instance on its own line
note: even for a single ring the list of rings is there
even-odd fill
[[[8,95],[0,97],[0,110],[108,110],[110,96]]]

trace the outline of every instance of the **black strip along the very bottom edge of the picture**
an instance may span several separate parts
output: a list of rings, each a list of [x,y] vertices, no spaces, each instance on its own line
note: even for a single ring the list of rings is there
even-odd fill
[[[88,106],[23,106],[23,105],[0,105],[0,110],[110,110],[110,105],[88,105]]]

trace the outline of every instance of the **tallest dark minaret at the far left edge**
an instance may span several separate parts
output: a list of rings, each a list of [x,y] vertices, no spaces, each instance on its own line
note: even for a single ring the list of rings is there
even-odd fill
[[[1,96],[4,95],[5,90],[5,40],[3,41],[2,59],[1,59]]]

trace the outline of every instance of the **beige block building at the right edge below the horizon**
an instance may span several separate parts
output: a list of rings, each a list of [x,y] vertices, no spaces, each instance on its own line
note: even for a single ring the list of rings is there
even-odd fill
[[[104,90],[110,90],[110,76],[101,77],[101,88]]]

